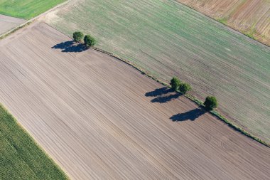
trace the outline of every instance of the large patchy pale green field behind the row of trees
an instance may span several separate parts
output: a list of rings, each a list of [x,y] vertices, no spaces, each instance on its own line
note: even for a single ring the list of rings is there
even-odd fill
[[[156,78],[178,76],[200,100],[217,96],[225,117],[270,142],[269,47],[173,0],[71,1],[46,21],[90,33]]]

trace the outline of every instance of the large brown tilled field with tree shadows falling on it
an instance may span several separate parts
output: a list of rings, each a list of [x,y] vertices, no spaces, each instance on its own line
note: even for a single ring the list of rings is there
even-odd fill
[[[0,63],[0,101],[72,179],[270,176],[269,148],[44,23],[0,41]]]

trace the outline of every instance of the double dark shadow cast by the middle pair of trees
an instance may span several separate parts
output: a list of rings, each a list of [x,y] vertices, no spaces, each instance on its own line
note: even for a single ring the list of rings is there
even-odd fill
[[[181,94],[178,92],[174,92],[170,88],[164,87],[153,90],[151,92],[146,92],[145,95],[146,97],[156,97],[153,100],[151,100],[151,102],[166,103],[171,100],[177,99],[178,97],[180,97]]]

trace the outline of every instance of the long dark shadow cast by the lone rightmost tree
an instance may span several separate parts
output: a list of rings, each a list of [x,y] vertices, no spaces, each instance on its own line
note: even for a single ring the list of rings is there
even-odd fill
[[[170,119],[173,122],[177,121],[186,121],[186,120],[191,120],[194,121],[201,115],[204,115],[207,111],[203,108],[196,108],[195,110],[190,110],[188,112],[183,112],[181,114],[173,115],[170,117]]]

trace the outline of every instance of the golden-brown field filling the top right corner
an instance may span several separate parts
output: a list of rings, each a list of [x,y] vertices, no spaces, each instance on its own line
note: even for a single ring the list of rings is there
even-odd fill
[[[269,0],[177,0],[270,46]]]

